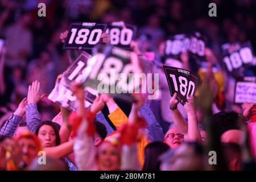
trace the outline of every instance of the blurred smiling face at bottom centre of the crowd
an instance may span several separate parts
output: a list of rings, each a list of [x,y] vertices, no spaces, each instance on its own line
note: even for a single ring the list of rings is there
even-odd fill
[[[98,166],[101,171],[115,171],[120,168],[120,151],[117,146],[104,142],[98,148]]]

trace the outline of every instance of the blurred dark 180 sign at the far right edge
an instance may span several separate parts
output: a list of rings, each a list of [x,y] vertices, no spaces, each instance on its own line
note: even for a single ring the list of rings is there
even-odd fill
[[[222,63],[229,73],[250,66],[253,59],[254,52],[250,42],[222,45]]]

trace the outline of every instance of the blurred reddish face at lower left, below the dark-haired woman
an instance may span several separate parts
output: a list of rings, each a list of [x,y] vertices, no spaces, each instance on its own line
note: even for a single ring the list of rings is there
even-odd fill
[[[30,164],[35,158],[36,154],[36,144],[31,138],[21,138],[18,141],[20,147],[22,147],[22,160]]]

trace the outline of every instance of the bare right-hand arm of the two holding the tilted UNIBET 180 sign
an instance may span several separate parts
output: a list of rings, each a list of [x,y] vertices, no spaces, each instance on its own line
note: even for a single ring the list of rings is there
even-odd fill
[[[201,143],[201,134],[196,119],[196,108],[194,97],[190,96],[184,105],[184,109],[188,114],[188,140],[190,142]]]

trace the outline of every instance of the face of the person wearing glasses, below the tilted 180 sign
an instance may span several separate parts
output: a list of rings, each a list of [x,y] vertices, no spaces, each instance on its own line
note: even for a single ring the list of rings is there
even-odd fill
[[[177,148],[184,141],[184,135],[176,128],[172,128],[167,131],[164,136],[164,143],[168,144],[171,148]]]

